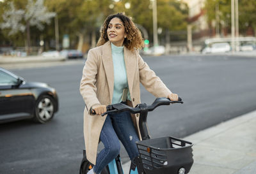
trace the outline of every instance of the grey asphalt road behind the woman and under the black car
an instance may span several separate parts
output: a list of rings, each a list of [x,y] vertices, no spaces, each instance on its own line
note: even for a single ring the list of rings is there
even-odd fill
[[[256,59],[179,55],[145,61],[184,101],[148,114],[153,138],[181,138],[256,109]],[[83,64],[12,69],[26,80],[55,87],[60,111],[44,125],[29,120],[0,125],[1,174],[79,173],[84,148],[84,102],[79,94]],[[141,86],[141,101],[150,104],[154,99]],[[121,154],[127,161],[124,149]]]

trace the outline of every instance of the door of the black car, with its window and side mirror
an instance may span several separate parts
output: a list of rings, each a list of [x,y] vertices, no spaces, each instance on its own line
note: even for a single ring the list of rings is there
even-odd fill
[[[30,89],[22,89],[22,80],[0,70],[0,120],[29,117],[35,101]]]

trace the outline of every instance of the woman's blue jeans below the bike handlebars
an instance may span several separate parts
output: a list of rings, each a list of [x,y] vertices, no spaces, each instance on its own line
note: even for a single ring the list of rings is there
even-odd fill
[[[108,114],[102,131],[100,141],[104,149],[97,155],[94,173],[98,174],[120,153],[120,141],[125,147],[129,157],[133,160],[139,155],[136,141],[139,140],[129,112]]]

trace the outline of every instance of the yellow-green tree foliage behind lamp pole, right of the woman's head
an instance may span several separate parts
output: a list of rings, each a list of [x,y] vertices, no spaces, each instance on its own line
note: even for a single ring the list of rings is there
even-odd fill
[[[122,2],[122,3],[121,3]],[[125,9],[124,4],[130,3],[131,8]],[[153,36],[152,4],[150,0],[129,0],[116,3],[115,12],[125,11],[136,24],[147,29],[150,38]],[[169,31],[186,30],[188,6],[175,0],[157,0],[157,26],[163,29],[166,42],[170,41]]]

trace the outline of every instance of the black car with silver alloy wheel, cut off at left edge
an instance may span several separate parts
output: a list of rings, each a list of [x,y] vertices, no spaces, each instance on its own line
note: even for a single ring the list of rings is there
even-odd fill
[[[33,119],[45,123],[58,111],[56,90],[46,83],[26,82],[0,68],[0,123]]]

